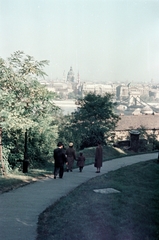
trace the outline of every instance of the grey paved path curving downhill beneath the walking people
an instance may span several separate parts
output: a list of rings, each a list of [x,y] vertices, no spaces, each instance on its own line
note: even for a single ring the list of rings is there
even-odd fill
[[[0,195],[0,239],[35,240],[38,216],[49,205],[87,180],[120,167],[157,159],[157,153],[114,159],[103,163],[101,173],[93,165],[82,173],[75,169],[63,179],[48,178]]]

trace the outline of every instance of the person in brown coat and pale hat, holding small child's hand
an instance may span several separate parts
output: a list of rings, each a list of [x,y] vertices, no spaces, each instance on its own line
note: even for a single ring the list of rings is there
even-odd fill
[[[69,147],[66,149],[66,156],[67,156],[67,161],[68,161],[67,172],[69,172],[69,171],[72,172],[74,160],[76,160],[76,153],[73,148],[72,142],[69,143]]]

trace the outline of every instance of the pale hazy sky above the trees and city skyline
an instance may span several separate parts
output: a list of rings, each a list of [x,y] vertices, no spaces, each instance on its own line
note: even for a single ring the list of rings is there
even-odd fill
[[[51,79],[159,82],[159,0],[0,0],[0,57],[17,50]]]

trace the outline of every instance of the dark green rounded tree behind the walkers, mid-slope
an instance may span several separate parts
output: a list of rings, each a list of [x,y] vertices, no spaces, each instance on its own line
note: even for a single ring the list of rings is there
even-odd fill
[[[88,93],[77,100],[77,104],[80,106],[78,111],[67,116],[62,129],[59,129],[59,136],[74,141],[77,148],[95,146],[98,141],[105,144],[119,119],[113,112],[116,105],[113,95]]]

